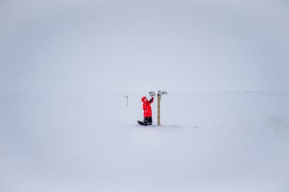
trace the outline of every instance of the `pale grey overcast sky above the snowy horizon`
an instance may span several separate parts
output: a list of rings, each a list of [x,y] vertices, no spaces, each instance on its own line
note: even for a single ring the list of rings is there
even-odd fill
[[[289,90],[287,1],[1,1],[0,91]]]

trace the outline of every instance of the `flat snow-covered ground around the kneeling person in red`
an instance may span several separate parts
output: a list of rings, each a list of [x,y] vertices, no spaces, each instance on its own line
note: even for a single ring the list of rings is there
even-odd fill
[[[1,95],[1,191],[289,189],[288,93],[130,96]]]

